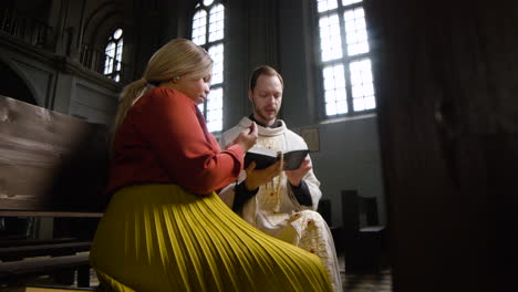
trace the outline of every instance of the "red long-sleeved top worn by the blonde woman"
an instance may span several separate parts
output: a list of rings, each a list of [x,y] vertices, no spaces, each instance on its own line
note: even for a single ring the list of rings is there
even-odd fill
[[[158,87],[128,111],[115,135],[107,194],[143,182],[176,184],[208,194],[235,181],[244,150],[221,152],[194,101]]]

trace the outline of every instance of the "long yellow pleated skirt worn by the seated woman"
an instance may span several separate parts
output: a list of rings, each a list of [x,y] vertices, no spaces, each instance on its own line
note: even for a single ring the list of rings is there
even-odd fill
[[[176,185],[117,191],[90,261],[103,291],[331,291],[317,255]]]

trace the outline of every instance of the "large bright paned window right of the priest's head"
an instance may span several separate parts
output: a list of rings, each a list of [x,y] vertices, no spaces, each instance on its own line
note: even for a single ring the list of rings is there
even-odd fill
[[[325,117],[376,107],[362,0],[315,0]]]

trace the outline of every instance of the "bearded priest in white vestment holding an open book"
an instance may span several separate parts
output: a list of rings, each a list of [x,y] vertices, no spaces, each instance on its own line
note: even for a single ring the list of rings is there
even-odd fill
[[[302,137],[277,118],[282,91],[282,76],[274,69],[267,65],[256,69],[248,91],[253,112],[222,134],[222,147],[232,144],[242,129],[256,122],[259,137],[253,148],[281,152],[308,148]],[[342,291],[333,238],[325,220],[315,211],[322,192],[309,155],[294,170],[284,170],[282,159],[265,169],[256,169],[251,163],[219,195],[257,229],[319,255],[333,290]]]

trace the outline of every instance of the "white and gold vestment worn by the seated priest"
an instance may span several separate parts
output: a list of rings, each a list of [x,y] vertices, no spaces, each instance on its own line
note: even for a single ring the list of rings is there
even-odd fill
[[[308,148],[302,137],[288,129],[284,122],[278,121],[281,125],[276,128],[266,128],[258,125],[259,137],[253,147],[284,152]],[[244,117],[237,126],[225,132],[221,136],[221,147],[225,149],[250,124],[251,121]],[[245,178],[246,173],[241,171],[237,184],[244,181]],[[241,216],[250,225],[267,234],[319,255],[328,271],[333,290],[342,291],[340,269],[331,230],[325,220],[315,211],[322,197],[319,188],[320,181],[312,169],[303,177],[303,180],[311,195],[312,206],[299,204],[286,174],[281,173],[272,181],[259,187],[258,194],[245,204]],[[219,194],[230,208],[234,204],[234,190],[237,184],[227,186]]]

